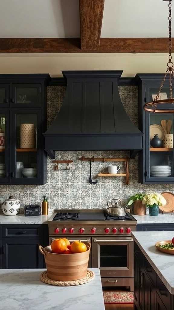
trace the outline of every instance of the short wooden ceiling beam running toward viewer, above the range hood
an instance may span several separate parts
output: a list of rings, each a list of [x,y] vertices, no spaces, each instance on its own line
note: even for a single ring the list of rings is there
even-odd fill
[[[105,0],[79,0],[81,49],[99,50]]]

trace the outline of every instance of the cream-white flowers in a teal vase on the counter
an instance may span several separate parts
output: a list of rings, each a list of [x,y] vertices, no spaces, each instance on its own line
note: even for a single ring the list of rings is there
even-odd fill
[[[147,193],[144,195],[142,203],[149,208],[149,215],[157,216],[159,215],[159,206],[165,206],[167,202],[159,193]]]

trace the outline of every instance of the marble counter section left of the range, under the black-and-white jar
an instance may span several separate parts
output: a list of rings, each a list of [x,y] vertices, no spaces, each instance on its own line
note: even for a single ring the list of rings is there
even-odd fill
[[[3,215],[0,214],[0,224],[47,224],[47,221],[52,217],[50,215],[37,215],[37,216],[24,216],[24,214],[18,215]]]

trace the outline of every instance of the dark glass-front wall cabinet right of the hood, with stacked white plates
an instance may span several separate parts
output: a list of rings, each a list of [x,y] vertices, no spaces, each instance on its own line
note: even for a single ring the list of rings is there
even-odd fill
[[[174,184],[174,114],[145,112],[143,106],[153,101],[161,85],[163,74],[137,74],[139,85],[139,129],[143,132],[143,150],[139,152],[139,183]],[[159,99],[169,99],[166,81]],[[172,109],[172,104],[159,109]]]

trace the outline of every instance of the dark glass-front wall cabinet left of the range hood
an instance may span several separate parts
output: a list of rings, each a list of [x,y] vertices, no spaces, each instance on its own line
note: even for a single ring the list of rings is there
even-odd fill
[[[0,75],[0,184],[45,184],[48,74]]]

